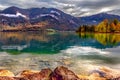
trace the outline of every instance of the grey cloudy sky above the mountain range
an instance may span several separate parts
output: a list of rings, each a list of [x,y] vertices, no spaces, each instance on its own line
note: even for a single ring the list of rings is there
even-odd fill
[[[74,16],[88,16],[118,10],[120,0],[0,0],[0,10],[10,6],[20,8],[57,8]]]

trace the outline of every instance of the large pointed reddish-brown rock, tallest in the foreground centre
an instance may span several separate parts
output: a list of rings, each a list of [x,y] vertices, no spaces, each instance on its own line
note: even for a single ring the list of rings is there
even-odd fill
[[[51,74],[51,80],[79,80],[79,78],[68,68],[60,66]]]

